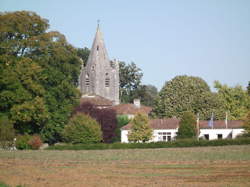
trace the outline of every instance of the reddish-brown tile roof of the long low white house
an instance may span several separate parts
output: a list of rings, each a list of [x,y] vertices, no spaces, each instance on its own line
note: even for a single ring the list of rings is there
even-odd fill
[[[153,129],[176,129],[179,127],[180,120],[177,118],[167,118],[167,119],[152,119],[150,120],[150,126]],[[214,121],[214,129],[226,129],[226,124],[224,120]],[[212,127],[208,126],[208,121],[200,121],[200,129],[211,129]],[[122,130],[131,129],[132,124],[122,127]],[[236,129],[243,128],[243,121],[240,120],[232,120],[228,121],[227,128]]]

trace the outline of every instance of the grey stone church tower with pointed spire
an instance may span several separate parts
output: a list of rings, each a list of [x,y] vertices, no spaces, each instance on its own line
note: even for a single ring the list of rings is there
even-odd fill
[[[99,24],[79,81],[83,96],[102,96],[112,101],[113,105],[119,104],[119,63],[109,60]]]

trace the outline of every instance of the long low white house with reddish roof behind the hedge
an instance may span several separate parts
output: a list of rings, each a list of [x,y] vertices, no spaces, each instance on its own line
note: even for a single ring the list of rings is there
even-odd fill
[[[150,126],[153,129],[153,136],[150,142],[172,141],[175,140],[179,128],[180,120],[177,118],[152,119]],[[198,125],[197,125],[198,126]],[[121,128],[121,142],[128,143],[128,133],[132,124]],[[213,121],[209,126],[208,121],[199,122],[199,138],[207,140],[214,139],[232,139],[244,132],[243,122],[239,120],[232,121]]]

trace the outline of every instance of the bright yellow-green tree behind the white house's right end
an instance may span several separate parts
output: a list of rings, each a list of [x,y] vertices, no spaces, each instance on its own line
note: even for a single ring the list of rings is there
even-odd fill
[[[223,101],[225,111],[229,112],[230,120],[241,120],[250,109],[250,96],[242,86],[229,87],[215,81],[214,87]]]

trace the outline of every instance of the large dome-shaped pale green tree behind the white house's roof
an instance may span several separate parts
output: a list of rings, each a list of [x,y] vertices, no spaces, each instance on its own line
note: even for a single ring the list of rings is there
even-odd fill
[[[165,83],[155,101],[154,117],[181,117],[185,111],[199,113],[207,120],[212,112],[215,119],[224,119],[224,109],[220,98],[210,91],[207,83],[199,77],[176,76]]]

